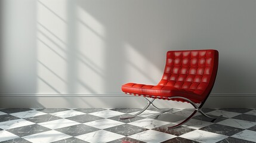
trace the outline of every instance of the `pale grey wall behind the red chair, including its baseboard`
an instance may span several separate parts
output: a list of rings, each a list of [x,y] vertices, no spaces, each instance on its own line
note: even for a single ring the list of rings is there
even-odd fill
[[[255,107],[254,0],[1,0],[0,7],[0,107],[142,107],[121,85],[157,84],[166,51],[176,49],[220,52],[206,107]]]

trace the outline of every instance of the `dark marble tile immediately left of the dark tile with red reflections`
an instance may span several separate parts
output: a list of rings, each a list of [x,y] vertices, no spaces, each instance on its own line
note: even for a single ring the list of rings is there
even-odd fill
[[[133,135],[135,133],[143,132],[147,129],[140,128],[138,126],[129,125],[129,124],[124,124],[124,125],[114,126],[112,128],[107,128],[104,130],[107,130],[107,131],[113,132],[113,133],[118,133],[118,134],[124,135],[124,136],[129,136],[129,135]]]

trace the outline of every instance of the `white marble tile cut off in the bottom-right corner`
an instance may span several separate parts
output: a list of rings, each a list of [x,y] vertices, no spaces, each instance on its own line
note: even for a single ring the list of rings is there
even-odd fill
[[[242,132],[236,133],[232,137],[234,138],[239,138],[239,139],[244,139],[246,141],[256,141],[256,132],[252,130],[243,130]]]

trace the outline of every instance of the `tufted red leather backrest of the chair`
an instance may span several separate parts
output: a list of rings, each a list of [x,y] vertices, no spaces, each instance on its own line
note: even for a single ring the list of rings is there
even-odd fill
[[[158,85],[174,86],[199,95],[208,95],[218,69],[218,51],[168,51],[164,75]]]

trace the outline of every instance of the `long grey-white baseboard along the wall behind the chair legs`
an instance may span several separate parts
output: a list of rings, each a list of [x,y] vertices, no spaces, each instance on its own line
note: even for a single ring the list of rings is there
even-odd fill
[[[203,107],[208,108],[256,108],[256,94],[212,94]],[[160,108],[192,108],[192,105],[155,100]],[[0,95],[0,108],[143,108],[146,101],[132,95],[84,95],[84,94],[12,94]]]

